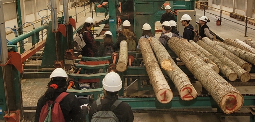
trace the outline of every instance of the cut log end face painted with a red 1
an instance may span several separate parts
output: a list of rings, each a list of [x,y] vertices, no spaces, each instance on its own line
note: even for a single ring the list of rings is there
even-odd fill
[[[169,103],[173,98],[173,93],[171,89],[160,89],[157,92],[157,100],[162,104]]]

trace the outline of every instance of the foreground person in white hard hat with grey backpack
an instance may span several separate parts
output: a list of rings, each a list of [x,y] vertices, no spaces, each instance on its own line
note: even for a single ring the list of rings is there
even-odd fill
[[[112,111],[119,119],[117,122],[133,122],[134,116],[129,104],[118,100],[118,92],[123,86],[120,76],[111,71],[104,77],[102,86],[106,91],[106,95],[91,104],[89,122],[97,122],[95,119],[99,117],[94,117],[94,114],[100,111]],[[115,109],[112,109],[113,106]]]

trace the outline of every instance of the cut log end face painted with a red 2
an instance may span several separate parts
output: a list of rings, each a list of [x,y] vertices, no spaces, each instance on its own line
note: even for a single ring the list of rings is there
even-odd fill
[[[195,99],[197,97],[196,89],[192,84],[185,85],[180,89],[180,98],[185,101]]]

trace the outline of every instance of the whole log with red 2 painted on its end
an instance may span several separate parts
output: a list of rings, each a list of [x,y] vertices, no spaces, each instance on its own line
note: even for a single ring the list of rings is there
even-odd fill
[[[191,84],[188,76],[176,65],[175,61],[167,52],[165,47],[156,38],[149,38],[150,46],[152,47],[154,53],[157,56],[159,65],[161,61],[165,58],[168,62],[171,61],[170,70],[165,70],[166,74],[170,77],[173,84],[180,94],[180,98],[185,101],[192,100],[197,97],[196,89]],[[160,60],[160,61],[159,61]]]

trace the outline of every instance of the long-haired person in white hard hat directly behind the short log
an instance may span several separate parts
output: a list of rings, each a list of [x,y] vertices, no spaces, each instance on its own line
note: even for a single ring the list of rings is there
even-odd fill
[[[138,45],[138,40],[137,40],[135,34],[132,32],[131,23],[128,20],[125,20],[123,22],[122,32],[118,36],[118,41],[116,43],[118,48],[120,47],[120,43],[123,40],[131,40],[131,41],[134,41],[136,43],[136,46]]]

